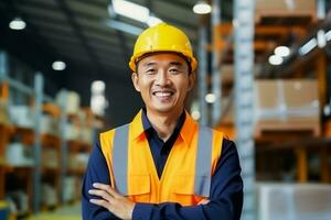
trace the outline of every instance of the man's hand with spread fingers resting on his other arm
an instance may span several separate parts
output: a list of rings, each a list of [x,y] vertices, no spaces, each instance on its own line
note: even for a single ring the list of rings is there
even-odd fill
[[[98,196],[100,199],[90,199],[89,202],[108,209],[120,219],[132,219],[135,202],[118,194],[109,185],[95,183],[93,187],[94,189],[89,189],[88,194]]]

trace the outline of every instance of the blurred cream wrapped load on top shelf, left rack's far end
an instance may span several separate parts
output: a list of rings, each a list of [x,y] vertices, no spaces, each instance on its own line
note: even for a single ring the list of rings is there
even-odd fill
[[[79,111],[81,97],[77,92],[61,90],[56,95],[56,103],[61,107],[62,102],[65,103],[66,113],[75,114]]]

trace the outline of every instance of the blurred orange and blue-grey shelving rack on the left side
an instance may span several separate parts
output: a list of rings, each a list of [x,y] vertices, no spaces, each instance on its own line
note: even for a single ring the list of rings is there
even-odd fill
[[[43,76],[41,73],[36,73],[34,77],[34,87],[29,86],[12,79],[8,76],[8,56],[4,52],[0,53],[0,99],[4,102],[9,98],[9,89],[15,89],[19,92],[31,96],[34,99],[34,117],[35,123],[34,128],[18,128],[12,124],[0,124],[0,153],[3,158],[0,161],[0,199],[6,197],[7,176],[10,174],[14,177],[20,177],[22,180],[21,185],[24,186],[24,191],[28,194],[29,198],[29,215],[31,212],[39,212],[40,210],[56,208],[61,204],[67,202],[64,200],[64,179],[73,175],[75,176],[75,198],[79,199],[79,188],[81,178],[84,174],[84,168],[70,169],[67,166],[68,152],[74,151],[85,151],[89,152],[92,148],[90,143],[84,143],[79,141],[66,141],[66,122],[74,118],[74,116],[66,114],[66,101],[61,100],[61,106],[52,105],[54,102],[53,98],[46,96],[43,92]],[[65,99],[65,96],[64,98]],[[47,102],[46,105],[43,105]],[[42,113],[51,114],[60,119],[60,135],[41,133],[41,117]],[[22,143],[26,145],[33,145],[34,154],[34,166],[33,167],[15,167],[8,165],[4,162],[4,153],[7,144],[13,135],[20,134]],[[44,167],[42,166],[42,151],[45,147],[53,147],[56,150],[57,160],[60,167]],[[41,207],[41,184],[42,179],[53,179],[53,185],[55,186],[55,191],[57,194],[57,200],[60,202],[56,207]]]

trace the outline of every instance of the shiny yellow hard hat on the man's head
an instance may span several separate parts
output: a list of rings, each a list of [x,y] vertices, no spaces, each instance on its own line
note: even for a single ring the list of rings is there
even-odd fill
[[[189,37],[179,29],[167,23],[160,23],[145,30],[137,38],[129,66],[136,72],[136,63],[142,55],[153,52],[175,52],[184,55],[191,64],[192,70],[196,68]]]

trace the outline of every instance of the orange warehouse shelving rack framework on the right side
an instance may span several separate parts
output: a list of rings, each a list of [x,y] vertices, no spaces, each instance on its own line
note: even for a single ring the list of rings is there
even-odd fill
[[[322,3],[319,1],[319,3]],[[303,3],[305,4],[305,3]],[[255,57],[255,63],[267,63],[267,56],[270,55],[274,48],[278,45],[286,44],[287,37],[291,35],[295,37],[295,43],[292,50],[298,50],[305,44],[309,38],[316,36],[316,32],[319,29],[330,28],[330,13],[327,15],[328,19],[319,20],[317,13],[296,13],[290,14],[275,12],[273,14],[263,14],[256,12],[257,18],[255,20],[255,41],[253,44],[253,50],[257,55]],[[213,44],[210,44],[207,48],[210,51],[216,51],[218,53],[220,63],[218,72],[222,75],[222,66],[224,64],[232,64],[233,58],[229,56],[234,53],[235,48],[233,43],[233,24],[221,23],[213,26]],[[312,32],[311,32],[312,30]],[[330,54],[330,52],[329,52]],[[318,80],[318,92],[319,102],[323,108],[327,101],[327,73],[328,73],[328,62],[325,53],[318,48],[311,52],[306,57],[297,58],[298,54],[293,53],[293,57],[286,66],[273,67],[268,65],[263,65],[261,70],[255,76],[257,78],[305,78],[307,77],[307,69],[312,68],[317,75]],[[329,67],[330,68],[330,67]],[[329,70],[330,72],[330,70]],[[267,73],[267,74],[266,74]],[[330,79],[329,79],[330,80]],[[233,94],[233,85],[235,80],[222,81],[222,94]],[[212,84],[212,79],[209,79]],[[237,84],[237,80],[236,80]],[[330,92],[330,89],[329,89]],[[329,94],[330,96],[330,94]],[[233,99],[234,96],[231,96]],[[233,101],[228,101],[229,105]],[[226,103],[225,103],[226,105]],[[322,109],[321,108],[321,109]],[[229,106],[223,108],[225,111],[231,110]],[[222,112],[225,116],[227,112]],[[238,116],[236,116],[238,118]],[[224,119],[224,117],[223,117]],[[223,122],[221,119],[220,123],[216,125],[217,129],[228,131],[231,134],[236,133],[234,122]],[[263,130],[259,132],[261,135],[255,136],[255,151],[256,151],[256,168],[257,173],[260,173],[265,166],[264,162],[269,163],[275,162],[276,166],[281,166],[281,155],[284,152],[291,153],[293,161],[296,161],[296,182],[307,183],[311,178],[309,177],[309,155],[314,153],[320,160],[320,176],[319,182],[331,183],[331,167],[329,165],[330,157],[330,142],[331,142],[331,127],[330,119],[322,121],[321,125],[317,128],[311,127],[292,127],[285,129],[284,131],[275,131],[273,128],[269,130]],[[293,131],[296,130],[296,131]],[[234,135],[232,135],[234,136]],[[267,154],[270,154],[268,158],[264,158]],[[271,160],[271,161],[270,161]],[[273,162],[273,163],[274,163]],[[266,170],[266,173],[273,173],[275,170]],[[258,177],[259,175],[257,175]],[[314,179],[316,180],[316,179]]]

